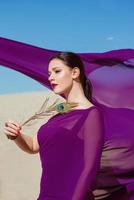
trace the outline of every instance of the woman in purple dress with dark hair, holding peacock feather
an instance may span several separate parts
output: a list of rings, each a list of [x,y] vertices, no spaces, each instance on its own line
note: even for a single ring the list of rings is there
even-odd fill
[[[38,200],[92,200],[104,144],[101,109],[92,103],[91,83],[79,56],[59,53],[51,58],[48,73],[55,94],[66,99],[63,112],[51,117],[33,138],[14,121],[6,123],[5,134],[27,153],[40,153]]]

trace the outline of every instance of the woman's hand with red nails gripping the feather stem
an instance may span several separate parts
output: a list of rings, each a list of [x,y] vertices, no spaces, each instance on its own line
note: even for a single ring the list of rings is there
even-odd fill
[[[15,140],[21,134],[21,126],[12,120],[5,123],[4,133],[10,140]]]

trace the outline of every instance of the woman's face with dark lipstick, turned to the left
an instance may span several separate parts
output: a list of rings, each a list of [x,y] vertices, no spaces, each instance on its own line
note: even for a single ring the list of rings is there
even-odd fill
[[[50,84],[56,94],[65,94],[73,84],[73,69],[65,65],[60,59],[53,59],[48,66]],[[56,84],[56,85],[53,85]]]

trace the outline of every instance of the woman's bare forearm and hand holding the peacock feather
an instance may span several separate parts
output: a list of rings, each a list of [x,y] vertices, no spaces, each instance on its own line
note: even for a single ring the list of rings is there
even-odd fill
[[[17,122],[10,120],[7,123],[5,123],[4,132],[7,136],[13,136],[13,137],[17,136],[14,142],[23,151],[29,154],[35,154],[39,152],[39,144],[37,141],[37,136],[35,135],[34,137],[31,137],[23,134],[21,131],[21,126]]]

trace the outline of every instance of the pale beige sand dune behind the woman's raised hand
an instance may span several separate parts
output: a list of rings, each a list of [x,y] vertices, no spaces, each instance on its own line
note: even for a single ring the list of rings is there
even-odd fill
[[[36,200],[39,193],[41,165],[39,154],[28,154],[8,140],[3,133],[4,123],[9,120],[23,122],[35,113],[50,97],[48,105],[57,98],[53,92],[31,92],[0,95],[0,200]],[[41,124],[49,118],[37,120],[25,127],[25,134],[35,135]]]

